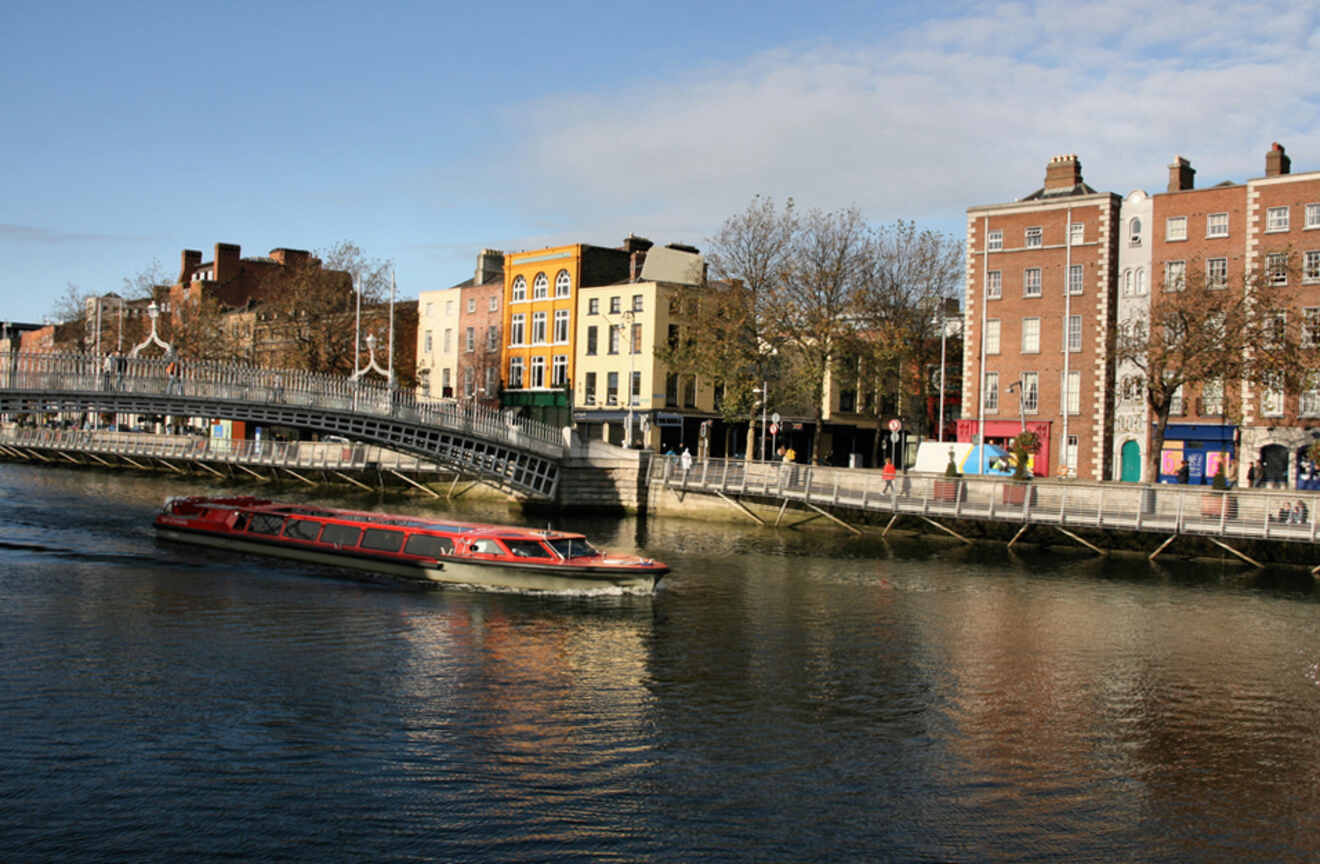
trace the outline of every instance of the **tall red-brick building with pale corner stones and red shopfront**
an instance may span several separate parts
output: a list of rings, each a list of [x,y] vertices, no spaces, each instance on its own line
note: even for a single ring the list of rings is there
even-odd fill
[[[1107,476],[1119,203],[1057,156],[1036,191],[968,208],[958,441],[1028,429],[1038,475]]]

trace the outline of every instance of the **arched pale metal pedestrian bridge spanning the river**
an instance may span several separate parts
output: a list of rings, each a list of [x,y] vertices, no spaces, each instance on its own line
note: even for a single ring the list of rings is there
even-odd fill
[[[90,354],[15,352],[0,360],[0,416],[202,417],[343,435],[450,467],[512,495],[554,500],[564,430],[470,401],[432,400],[383,381],[286,369]]]

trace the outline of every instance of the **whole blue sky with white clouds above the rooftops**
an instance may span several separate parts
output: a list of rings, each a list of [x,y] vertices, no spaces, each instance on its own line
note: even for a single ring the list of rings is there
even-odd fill
[[[702,245],[752,195],[961,239],[968,206],[1320,170],[1308,4],[65,3],[0,9],[0,319],[182,248]],[[1208,29],[1213,25],[1214,29]],[[1176,34],[1176,38],[1173,37]]]

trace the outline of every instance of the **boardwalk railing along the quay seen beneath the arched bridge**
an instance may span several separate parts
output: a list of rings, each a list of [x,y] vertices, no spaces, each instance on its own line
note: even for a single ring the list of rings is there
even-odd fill
[[[338,442],[276,442],[228,438],[203,438],[199,435],[150,434],[135,431],[106,431],[81,429],[0,429],[0,455],[21,459],[58,459],[42,456],[54,454],[69,462],[77,462],[69,454],[82,454],[94,462],[111,467],[117,464],[99,456],[116,459],[137,468],[152,468],[153,460],[165,463],[178,471],[180,464],[195,464],[211,474],[219,474],[207,466],[232,466],[256,479],[268,476],[255,470],[271,468],[284,471],[302,483],[317,485],[308,479],[314,471],[330,472],[348,484],[372,488],[351,476],[363,472],[391,474],[407,484],[417,487],[432,496],[437,492],[418,483],[420,479],[444,476],[455,483],[462,479],[451,466],[438,464],[418,456],[395,452],[374,445]],[[140,462],[139,462],[140,460]],[[238,476],[238,475],[236,475]],[[450,489],[453,493],[453,489]]]

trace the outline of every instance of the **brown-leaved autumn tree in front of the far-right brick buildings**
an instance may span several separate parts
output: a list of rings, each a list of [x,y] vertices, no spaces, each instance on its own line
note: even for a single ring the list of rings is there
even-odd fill
[[[1151,476],[1159,476],[1170,414],[1191,386],[1217,385],[1226,396],[1230,385],[1247,383],[1282,393],[1316,371],[1300,328],[1286,326],[1291,260],[1271,256],[1267,269],[1241,280],[1208,276],[1189,261],[1166,274],[1148,313],[1119,322],[1115,360],[1137,369],[1155,418]]]

